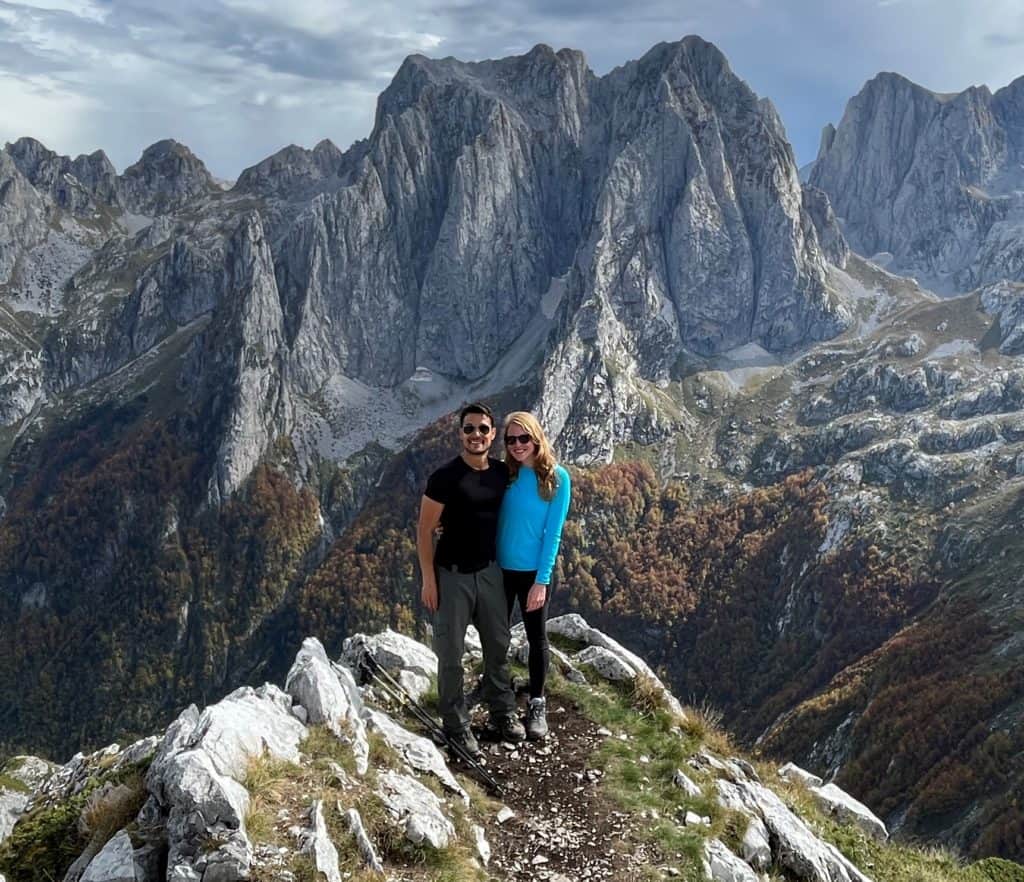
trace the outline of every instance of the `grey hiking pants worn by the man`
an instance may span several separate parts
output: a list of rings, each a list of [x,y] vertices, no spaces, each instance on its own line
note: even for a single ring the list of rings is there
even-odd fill
[[[434,652],[437,654],[437,704],[445,731],[469,728],[463,689],[462,655],[466,628],[480,632],[483,647],[482,697],[493,719],[515,712],[509,677],[509,616],[502,571],[492,562],[475,573],[437,568],[439,605],[434,614]]]

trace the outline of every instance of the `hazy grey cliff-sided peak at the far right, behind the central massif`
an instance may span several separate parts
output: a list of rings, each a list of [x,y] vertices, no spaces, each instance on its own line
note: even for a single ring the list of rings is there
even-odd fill
[[[936,94],[880,74],[827,129],[810,182],[853,248],[944,293],[1024,278],[1024,79]]]

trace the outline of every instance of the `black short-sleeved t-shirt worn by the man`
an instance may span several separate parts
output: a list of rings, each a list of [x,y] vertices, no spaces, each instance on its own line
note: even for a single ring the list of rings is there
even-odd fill
[[[457,456],[430,475],[425,495],[444,506],[438,566],[482,569],[498,557],[498,512],[508,482],[508,466],[489,457],[487,468],[477,470]]]

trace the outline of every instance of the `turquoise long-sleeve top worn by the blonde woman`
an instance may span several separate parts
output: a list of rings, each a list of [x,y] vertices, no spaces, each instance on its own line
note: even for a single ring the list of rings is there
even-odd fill
[[[569,510],[569,473],[555,466],[555,495],[541,498],[537,472],[520,466],[516,479],[505,491],[498,516],[498,563],[503,570],[537,571],[541,585],[551,584],[562,526]]]

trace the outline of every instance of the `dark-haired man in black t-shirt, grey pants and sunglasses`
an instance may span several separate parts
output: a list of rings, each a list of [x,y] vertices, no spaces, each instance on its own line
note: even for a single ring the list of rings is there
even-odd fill
[[[459,414],[461,453],[427,480],[420,503],[416,544],[423,574],[423,605],[434,614],[437,698],[450,741],[478,755],[469,728],[463,690],[462,656],[472,622],[483,648],[483,699],[490,723],[504,741],[522,741],[508,669],[509,620],[498,556],[498,512],[508,486],[505,463],[487,456],[495,418],[480,404]],[[436,550],[433,536],[441,538]]]

